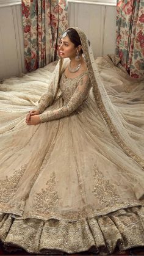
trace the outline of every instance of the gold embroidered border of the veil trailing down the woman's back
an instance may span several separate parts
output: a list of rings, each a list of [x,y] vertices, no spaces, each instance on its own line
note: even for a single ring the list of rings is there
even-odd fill
[[[88,68],[88,73],[91,79],[91,84],[93,86],[93,92],[95,93],[95,98],[96,98],[96,103],[98,104],[98,108],[101,111],[101,114],[104,117],[104,120],[106,120],[107,125],[109,127],[110,133],[112,134],[113,138],[115,139],[115,141],[117,142],[118,145],[120,145],[121,148],[123,148],[124,152],[126,152],[126,154],[128,156],[131,156],[131,158],[133,158],[135,161],[137,161],[137,163],[139,163],[142,167],[144,167],[144,161],[143,159],[137,155],[137,153],[133,152],[133,150],[131,150],[131,148],[129,147],[129,145],[127,145],[127,143],[124,142],[123,137],[121,136],[120,133],[118,133],[118,125],[121,125],[121,122],[118,123],[118,125],[115,125],[113,123],[113,117],[115,117],[117,119],[117,114],[115,114],[115,112],[113,111],[113,108],[111,106],[111,108],[109,108],[109,106],[107,106],[106,109],[106,102],[104,103],[102,100],[102,96],[104,98],[105,93],[103,95],[102,92],[100,92],[98,83],[101,84],[101,78],[99,77],[99,73],[98,70],[96,70],[96,63],[93,56],[93,53],[91,52],[91,49],[88,49],[88,40],[86,35],[84,34],[83,31],[81,31],[81,29],[79,28],[74,28],[76,29],[76,31],[79,34],[79,37],[81,38],[81,43],[82,43],[82,49],[84,51],[85,54],[85,60],[87,62],[87,68]],[[90,51],[90,53],[89,53]],[[90,56],[92,57],[92,62],[90,60]],[[95,73],[96,73],[96,78],[95,78]],[[105,99],[108,102],[108,98]],[[122,126],[121,126],[122,127]],[[128,134],[127,134],[128,135]]]

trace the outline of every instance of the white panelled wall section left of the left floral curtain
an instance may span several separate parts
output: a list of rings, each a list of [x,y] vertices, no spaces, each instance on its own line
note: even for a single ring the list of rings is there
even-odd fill
[[[21,5],[0,5],[0,79],[25,71],[23,53]]]

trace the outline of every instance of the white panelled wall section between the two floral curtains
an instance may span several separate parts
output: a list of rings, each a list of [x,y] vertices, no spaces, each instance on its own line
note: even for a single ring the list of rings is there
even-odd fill
[[[70,2],[68,15],[70,26],[87,34],[95,57],[115,53],[115,6]]]

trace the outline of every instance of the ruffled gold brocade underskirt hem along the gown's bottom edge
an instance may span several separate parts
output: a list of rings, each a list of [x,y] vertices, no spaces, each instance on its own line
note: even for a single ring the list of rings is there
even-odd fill
[[[22,247],[29,253],[92,251],[99,255],[144,245],[143,207],[118,210],[81,221],[13,219],[1,214],[1,240],[7,249]]]

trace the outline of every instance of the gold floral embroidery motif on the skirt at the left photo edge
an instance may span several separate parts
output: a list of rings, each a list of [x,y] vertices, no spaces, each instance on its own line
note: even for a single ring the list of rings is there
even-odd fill
[[[14,175],[11,177],[6,177],[5,180],[0,181],[0,202],[8,202],[11,197],[15,194],[18,183],[20,181],[21,176],[24,174],[24,171],[26,170],[26,164],[24,166],[21,166],[19,170],[15,170]]]

